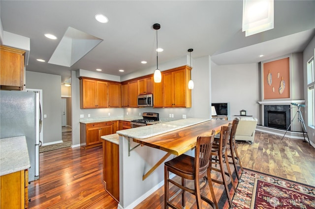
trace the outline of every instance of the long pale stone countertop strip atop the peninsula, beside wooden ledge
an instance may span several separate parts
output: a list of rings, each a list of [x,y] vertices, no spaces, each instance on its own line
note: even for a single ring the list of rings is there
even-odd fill
[[[144,139],[152,136],[156,136],[162,133],[183,129],[189,126],[196,125],[209,121],[209,118],[187,118],[182,120],[170,121],[150,126],[142,126],[133,129],[126,129],[117,131],[119,135],[123,135],[130,138]]]

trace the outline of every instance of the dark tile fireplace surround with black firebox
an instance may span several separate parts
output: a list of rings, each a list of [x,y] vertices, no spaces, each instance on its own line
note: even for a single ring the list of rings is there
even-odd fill
[[[291,122],[290,110],[290,105],[264,105],[264,126],[286,130]]]

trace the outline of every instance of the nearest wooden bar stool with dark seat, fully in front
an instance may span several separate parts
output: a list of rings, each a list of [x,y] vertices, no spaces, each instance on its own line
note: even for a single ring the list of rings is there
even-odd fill
[[[196,196],[196,205],[198,209],[202,208],[201,199],[203,201],[206,201],[215,209],[214,203],[205,196],[201,195],[201,190],[205,188],[205,186],[209,185],[204,177],[207,176],[207,171],[209,170],[209,163],[214,136],[215,131],[212,131],[211,136],[197,137],[195,157],[190,157],[188,155],[183,154],[164,163],[165,209],[167,209],[168,207],[177,209],[177,207],[171,203],[171,200],[179,194],[182,194],[182,207],[185,208],[186,205],[185,191],[188,191]],[[169,179],[169,172],[181,177],[181,183],[177,183],[172,179]],[[186,186],[186,179],[194,181],[193,188],[189,188],[188,186]],[[176,192],[171,198],[169,197],[169,183],[172,183],[180,188],[179,191]]]

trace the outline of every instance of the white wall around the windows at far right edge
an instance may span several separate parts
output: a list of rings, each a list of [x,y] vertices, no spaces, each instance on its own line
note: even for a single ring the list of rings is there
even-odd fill
[[[303,52],[303,72],[304,72],[304,98],[305,98],[305,104],[308,104],[307,101],[307,62],[312,58],[315,57],[315,36],[313,37],[312,41],[309,43],[309,45],[305,48]],[[308,111],[308,106],[305,107],[305,111]],[[310,137],[310,140],[315,143],[315,130],[314,127],[309,127],[308,124],[308,117],[307,114],[304,114],[304,121],[306,125],[306,129],[308,132],[308,136]]]

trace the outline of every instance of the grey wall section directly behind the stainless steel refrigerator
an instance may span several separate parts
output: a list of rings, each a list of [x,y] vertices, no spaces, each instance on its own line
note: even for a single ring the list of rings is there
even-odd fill
[[[61,76],[26,71],[26,88],[42,89],[43,144],[62,140]]]

